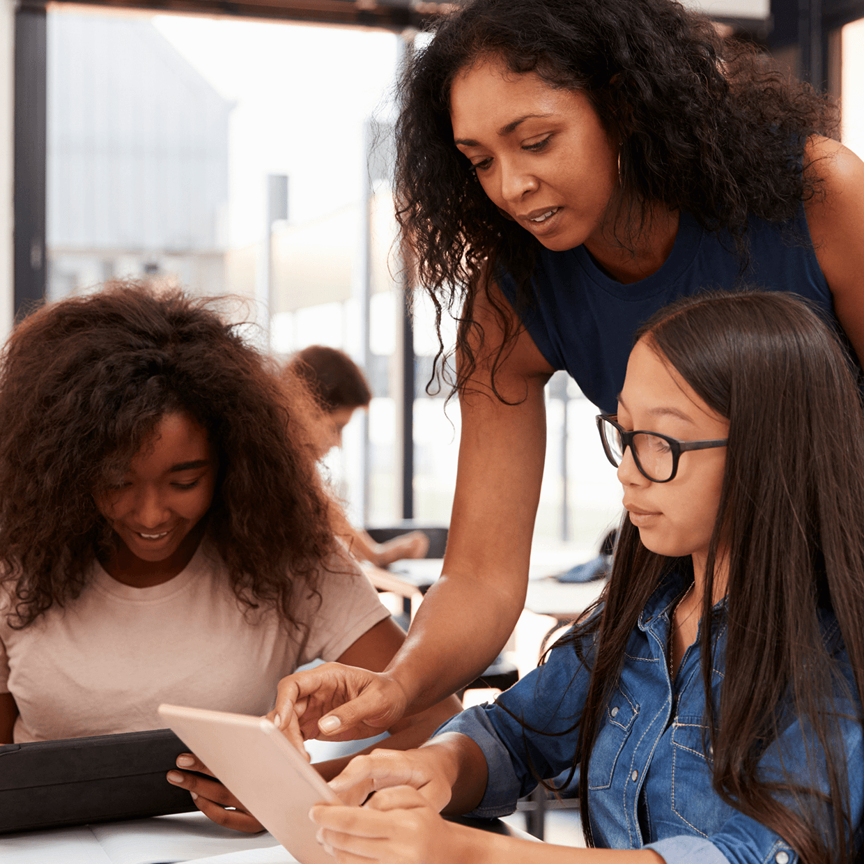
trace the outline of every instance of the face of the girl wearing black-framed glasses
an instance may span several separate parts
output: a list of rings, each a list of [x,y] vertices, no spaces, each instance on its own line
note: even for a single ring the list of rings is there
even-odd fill
[[[639,340],[630,354],[618,397],[618,422],[630,432],[659,432],[680,441],[727,438],[729,422],[711,410],[696,391],[657,353]],[[668,483],[653,483],[639,472],[627,448],[618,468],[624,506],[645,547],[658,555],[694,556],[704,566],[714,530],[726,467],[726,448],[681,454]]]

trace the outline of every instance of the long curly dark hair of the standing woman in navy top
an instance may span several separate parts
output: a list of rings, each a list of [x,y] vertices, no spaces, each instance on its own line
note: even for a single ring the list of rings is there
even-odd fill
[[[540,248],[499,213],[453,143],[450,88],[485,58],[588,95],[620,143],[625,245],[651,206],[663,204],[691,213],[703,229],[729,232],[746,262],[749,215],[782,223],[816,193],[804,148],[811,135],[835,128],[834,107],[675,0],[473,0],[442,17],[400,85],[397,219],[435,305],[439,338],[443,310],[461,323],[457,390],[476,367],[469,336],[482,344],[477,290],[497,310],[506,346],[513,327],[486,280],[509,272],[524,311]],[[442,359],[443,342],[436,365]]]

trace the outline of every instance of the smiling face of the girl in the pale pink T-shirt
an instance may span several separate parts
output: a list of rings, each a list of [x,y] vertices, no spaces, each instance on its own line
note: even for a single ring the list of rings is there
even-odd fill
[[[162,562],[210,509],[215,481],[205,430],[185,413],[166,414],[96,505],[133,556]]]

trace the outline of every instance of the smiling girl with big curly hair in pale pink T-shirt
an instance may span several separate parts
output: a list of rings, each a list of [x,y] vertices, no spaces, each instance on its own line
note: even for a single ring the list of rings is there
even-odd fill
[[[403,633],[334,542],[314,400],[277,372],[213,300],[134,283],[16,327],[0,361],[0,742],[158,728],[160,702],[263,715],[316,658],[384,670]],[[392,740],[416,746],[457,709]],[[222,810],[238,804],[221,785],[169,779],[260,829]]]

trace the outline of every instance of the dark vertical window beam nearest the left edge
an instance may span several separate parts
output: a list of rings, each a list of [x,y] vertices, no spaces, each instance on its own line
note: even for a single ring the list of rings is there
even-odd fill
[[[45,7],[15,14],[15,313],[45,298],[47,168]]]

